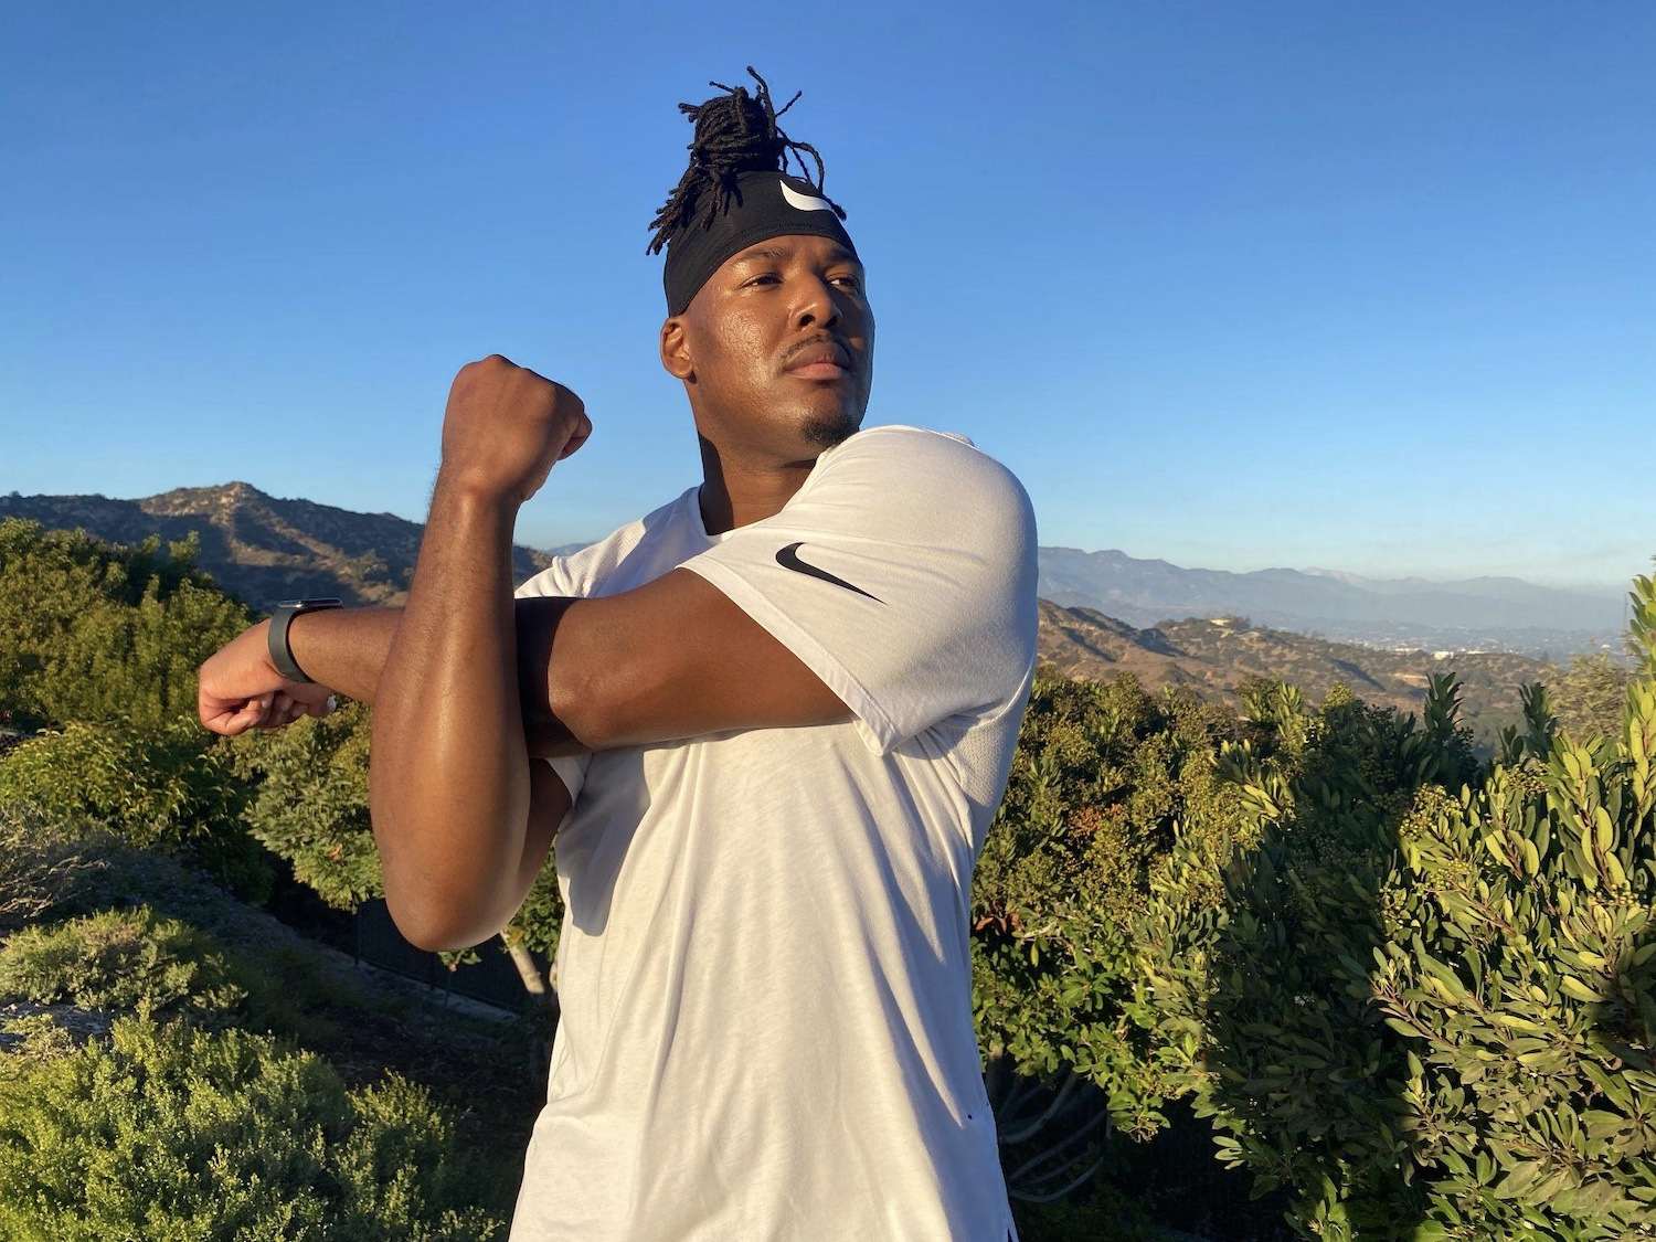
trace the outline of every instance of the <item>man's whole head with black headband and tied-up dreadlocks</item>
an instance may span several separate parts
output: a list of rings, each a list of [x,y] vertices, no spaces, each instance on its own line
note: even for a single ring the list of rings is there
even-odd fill
[[[684,381],[704,439],[808,460],[863,422],[874,318],[821,157],[777,128],[753,79],[757,96],[720,86],[679,104],[696,124],[691,164],[651,222],[651,252],[667,248],[661,361]],[[810,154],[816,179],[788,176],[788,152],[802,172]]]

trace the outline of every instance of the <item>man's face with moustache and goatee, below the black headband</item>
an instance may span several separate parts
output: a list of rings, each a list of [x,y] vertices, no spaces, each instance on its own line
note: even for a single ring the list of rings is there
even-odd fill
[[[863,265],[830,237],[765,238],[662,325],[661,359],[720,450],[815,460],[868,409],[874,316]]]

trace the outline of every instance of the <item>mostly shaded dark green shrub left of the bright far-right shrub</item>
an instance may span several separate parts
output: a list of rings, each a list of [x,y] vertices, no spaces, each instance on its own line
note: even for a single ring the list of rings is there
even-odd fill
[[[1222,1159],[1254,1169],[1260,1191],[1300,1192],[1302,1220],[1325,1184],[1408,1197],[1401,1042],[1365,964],[1383,942],[1379,889],[1414,790],[1474,768],[1454,692],[1434,681],[1418,730],[1348,696],[1312,714],[1292,687],[1255,687],[1255,737],[1227,747],[1224,767],[1257,845],[1217,869],[1217,904],[1214,859],[1181,848],[1144,921],[1143,1002],[1169,1083],[1212,1119]]]

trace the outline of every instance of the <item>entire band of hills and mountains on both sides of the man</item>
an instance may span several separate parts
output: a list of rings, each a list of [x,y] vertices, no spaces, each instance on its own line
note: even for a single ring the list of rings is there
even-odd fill
[[[392,513],[280,500],[240,482],[141,500],[0,495],[0,517],[83,528],[114,543],[151,535],[176,542],[194,532],[197,565],[260,609],[323,595],[358,604],[401,603],[422,530]],[[527,578],[580,546],[520,546],[513,568]],[[1517,580],[1386,583],[1293,570],[1239,575],[1073,548],[1040,550],[1040,595],[1042,659],[1071,676],[1131,672],[1149,687],[1189,686],[1230,704],[1237,684],[1252,676],[1292,681],[1313,702],[1340,681],[1370,702],[1416,710],[1429,674],[1452,667],[1466,687],[1467,719],[1485,740],[1497,724],[1517,719],[1519,686],[1553,676],[1552,664],[1500,651],[1388,651],[1335,641],[1336,623],[1406,628],[1424,618],[1434,633],[1462,636],[1490,618],[1547,633],[1613,634],[1620,628],[1613,599]],[[1186,619],[1171,619],[1181,616]],[[1321,623],[1305,626],[1305,618]],[[1323,633],[1293,633],[1310,628]]]

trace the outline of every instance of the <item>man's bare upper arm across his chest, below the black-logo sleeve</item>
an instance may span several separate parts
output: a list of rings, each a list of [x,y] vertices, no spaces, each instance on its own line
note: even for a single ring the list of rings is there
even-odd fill
[[[563,608],[546,689],[551,714],[595,750],[850,714],[798,656],[689,570]]]

